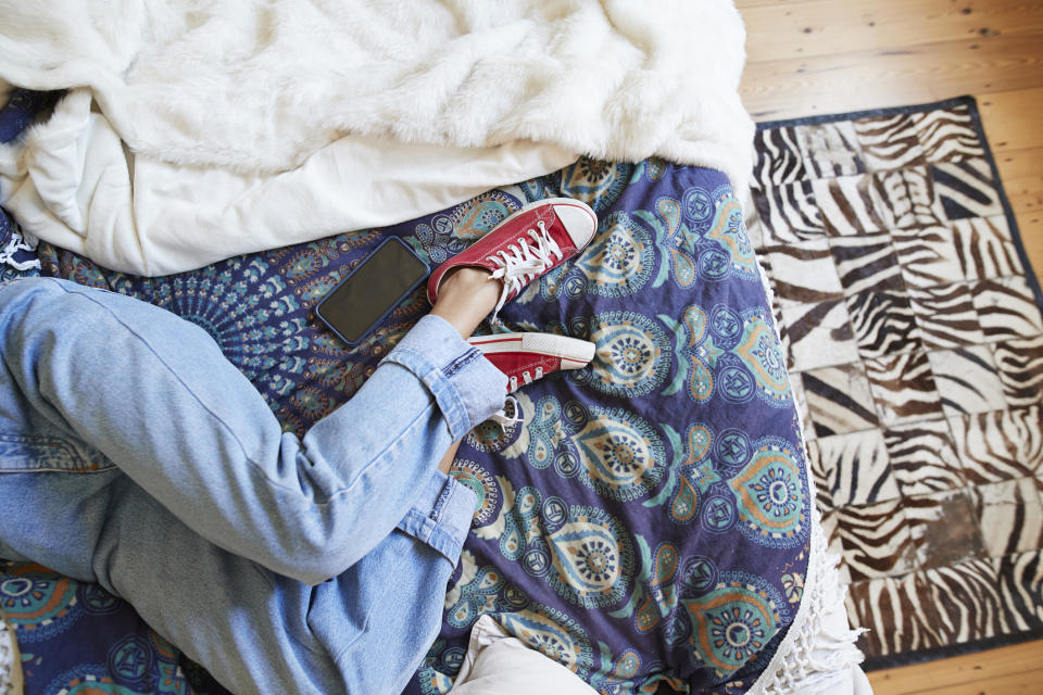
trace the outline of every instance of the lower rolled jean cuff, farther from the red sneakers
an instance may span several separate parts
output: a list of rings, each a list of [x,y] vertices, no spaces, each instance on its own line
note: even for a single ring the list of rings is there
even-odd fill
[[[478,495],[474,490],[436,470],[420,498],[399,521],[398,529],[456,565],[477,505]]]

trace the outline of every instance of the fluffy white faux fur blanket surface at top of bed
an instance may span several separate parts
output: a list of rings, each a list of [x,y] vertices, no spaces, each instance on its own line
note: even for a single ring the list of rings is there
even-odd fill
[[[750,169],[730,0],[0,0],[0,77],[90,88],[167,162],[278,172],[354,134]]]

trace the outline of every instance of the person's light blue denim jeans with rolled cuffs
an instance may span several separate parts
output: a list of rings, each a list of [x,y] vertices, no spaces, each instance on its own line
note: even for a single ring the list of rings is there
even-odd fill
[[[476,504],[438,463],[505,393],[449,324],[301,439],[137,300],[18,280],[0,339],[0,557],[98,582],[236,693],[404,687]]]

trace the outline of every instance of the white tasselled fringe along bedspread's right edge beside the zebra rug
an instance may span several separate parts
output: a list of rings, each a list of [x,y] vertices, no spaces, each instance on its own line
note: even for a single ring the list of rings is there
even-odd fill
[[[761,282],[764,286],[771,325],[778,337],[775,323],[775,291],[768,281],[764,268],[757,263]],[[801,408],[796,405],[796,417],[801,427],[801,447],[807,462],[807,446],[804,442],[804,421]],[[805,693],[834,692],[827,690],[841,679],[850,678],[853,667],[865,658],[855,646],[858,635],[866,630],[850,629],[846,617],[843,627],[824,624],[826,616],[833,610],[843,611],[846,586],[840,581],[838,564],[840,557],[826,552],[826,535],[822,532],[821,515],[815,507],[815,481],[807,470],[808,491],[812,495],[812,543],[807,559],[807,577],[804,580],[804,595],[797,608],[796,617],[768,667],[753,684],[746,695],[796,695]]]

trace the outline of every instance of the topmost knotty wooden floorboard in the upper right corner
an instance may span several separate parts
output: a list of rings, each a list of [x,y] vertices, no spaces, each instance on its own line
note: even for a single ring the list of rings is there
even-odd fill
[[[810,0],[742,11],[750,62],[1043,31],[1043,1]]]

